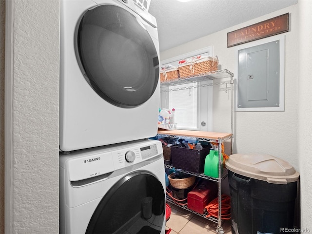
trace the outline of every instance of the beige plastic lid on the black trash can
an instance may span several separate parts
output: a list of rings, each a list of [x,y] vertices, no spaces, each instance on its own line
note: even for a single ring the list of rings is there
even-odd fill
[[[299,178],[299,173],[289,163],[271,155],[234,154],[225,162],[225,166],[239,175],[273,184],[287,184]]]

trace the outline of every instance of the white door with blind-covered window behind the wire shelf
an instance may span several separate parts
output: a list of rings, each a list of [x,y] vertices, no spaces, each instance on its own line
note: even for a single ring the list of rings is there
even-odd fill
[[[197,55],[212,56],[213,47],[209,46],[188,54],[162,60],[160,64],[171,64],[177,67],[178,61]],[[211,81],[205,80],[161,87],[160,108],[175,108],[177,129],[212,131],[213,88],[212,86],[207,87],[208,82],[210,83]]]

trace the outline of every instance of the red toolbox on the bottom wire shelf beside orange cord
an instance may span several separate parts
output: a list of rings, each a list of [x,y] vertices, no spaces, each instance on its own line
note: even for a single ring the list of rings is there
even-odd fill
[[[218,196],[216,183],[204,180],[187,195],[187,207],[199,214],[204,214],[205,206]]]

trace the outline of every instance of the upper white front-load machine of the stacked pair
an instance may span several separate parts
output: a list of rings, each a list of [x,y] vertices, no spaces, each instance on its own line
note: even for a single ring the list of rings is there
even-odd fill
[[[61,0],[60,150],[156,136],[158,57],[156,20],[135,1]]]

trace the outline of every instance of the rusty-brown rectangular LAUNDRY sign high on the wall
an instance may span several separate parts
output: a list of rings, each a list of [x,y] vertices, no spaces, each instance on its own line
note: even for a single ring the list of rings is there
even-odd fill
[[[228,47],[289,31],[289,13],[228,33]]]

